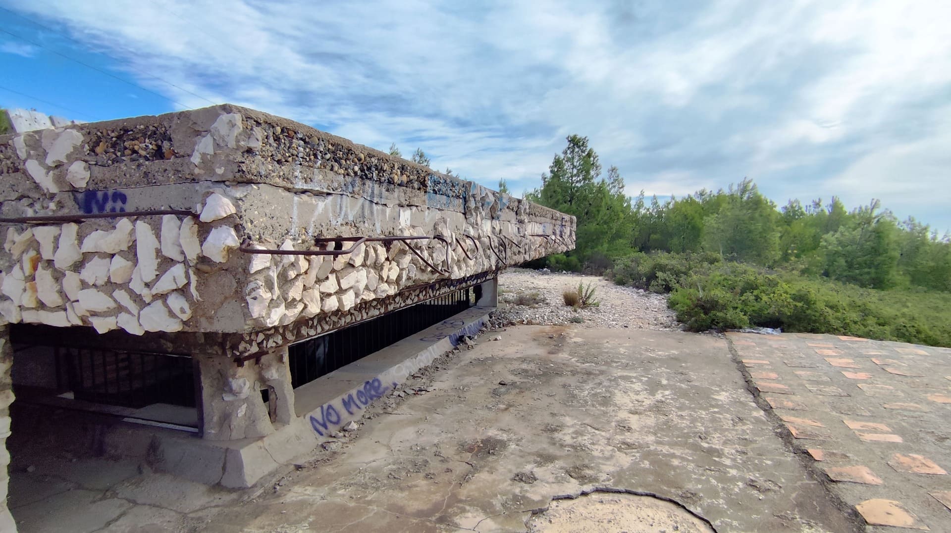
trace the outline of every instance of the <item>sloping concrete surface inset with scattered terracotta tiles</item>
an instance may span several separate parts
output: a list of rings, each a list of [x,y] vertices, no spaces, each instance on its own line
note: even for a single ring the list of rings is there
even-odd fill
[[[951,531],[951,350],[808,333],[727,338],[778,431],[875,531]],[[788,393],[761,389],[761,372]]]

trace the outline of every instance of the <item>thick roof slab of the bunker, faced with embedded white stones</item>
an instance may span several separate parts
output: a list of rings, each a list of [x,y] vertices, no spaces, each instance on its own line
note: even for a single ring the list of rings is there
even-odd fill
[[[100,333],[256,333],[564,252],[574,238],[572,217],[232,105],[0,137],[3,217],[151,209],[193,215],[6,225],[0,313]],[[394,235],[443,240],[341,257],[238,251]]]

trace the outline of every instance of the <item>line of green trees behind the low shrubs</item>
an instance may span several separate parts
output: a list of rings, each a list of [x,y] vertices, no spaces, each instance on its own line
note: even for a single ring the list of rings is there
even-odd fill
[[[604,271],[635,252],[713,253],[872,289],[951,291],[951,238],[900,221],[879,200],[847,210],[838,198],[782,208],[744,179],[683,198],[634,198],[617,167],[607,173],[587,137],[572,135],[527,200],[573,215],[576,248],[548,257],[558,270]]]

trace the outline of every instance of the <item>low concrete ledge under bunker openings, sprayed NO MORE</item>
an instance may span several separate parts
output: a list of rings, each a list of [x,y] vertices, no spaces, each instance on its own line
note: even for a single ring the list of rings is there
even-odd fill
[[[301,456],[317,447],[323,435],[362,418],[365,408],[374,400],[396,388],[420,369],[431,365],[438,356],[451,351],[464,335],[477,333],[493,311],[495,307],[475,307],[454,315],[448,320],[463,316],[463,324],[452,333],[439,330],[438,327],[442,325],[440,323],[413,335],[419,338],[431,337],[433,340],[427,341],[427,346],[419,352],[384,371],[365,374],[366,379],[362,385],[329,399],[318,409],[297,417],[291,424],[261,439],[208,441],[183,439],[178,435],[159,435],[156,455],[162,460],[155,467],[207,485],[249,488],[270,474],[300,463]],[[373,354],[368,357],[373,357]],[[365,359],[351,365],[365,362]],[[351,365],[341,368],[339,372],[348,371],[352,368]],[[365,397],[366,403],[360,402],[359,397]],[[343,406],[359,409],[346,409]],[[336,412],[337,416],[328,416],[330,412]]]

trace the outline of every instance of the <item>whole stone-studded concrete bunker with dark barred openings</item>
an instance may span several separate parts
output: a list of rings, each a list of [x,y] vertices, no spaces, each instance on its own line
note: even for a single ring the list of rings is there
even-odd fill
[[[14,417],[81,411],[95,447],[252,485],[476,331],[498,271],[574,230],[234,105],[0,137],[2,435],[15,390]]]

